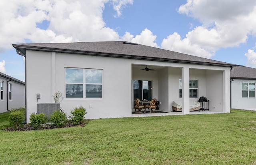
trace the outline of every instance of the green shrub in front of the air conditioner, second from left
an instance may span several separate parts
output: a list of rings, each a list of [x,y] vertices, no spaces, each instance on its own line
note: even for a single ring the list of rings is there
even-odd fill
[[[31,113],[30,115],[30,125],[34,127],[34,129],[42,129],[42,124],[45,124],[47,117],[44,113],[35,114]]]

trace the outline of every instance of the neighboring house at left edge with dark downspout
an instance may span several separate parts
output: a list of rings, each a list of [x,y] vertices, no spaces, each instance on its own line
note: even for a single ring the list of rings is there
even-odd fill
[[[25,83],[0,72],[0,113],[25,107]]]

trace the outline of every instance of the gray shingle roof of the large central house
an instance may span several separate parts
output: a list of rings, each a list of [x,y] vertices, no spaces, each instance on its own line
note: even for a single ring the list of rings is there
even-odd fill
[[[38,50],[212,66],[237,66],[235,64],[229,64],[226,62],[210,60],[207,58],[191,56],[188,54],[182,54],[170,50],[125,41],[12,45],[14,48],[16,48],[16,50],[18,50],[18,52],[23,54],[23,56],[26,56],[26,50]]]

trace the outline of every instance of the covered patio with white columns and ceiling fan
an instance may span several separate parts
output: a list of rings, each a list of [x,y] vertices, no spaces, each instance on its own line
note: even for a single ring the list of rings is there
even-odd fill
[[[167,113],[138,113],[132,114],[132,117],[230,112],[230,68],[174,63],[159,66],[159,62],[158,65],[154,63],[132,64],[132,111],[135,98],[146,98],[148,101],[156,98],[160,103],[159,110]],[[210,100],[209,111],[190,111],[190,104],[201,96]],[[172,112],[172,102],[176,100],[182,102],[182,112]]]

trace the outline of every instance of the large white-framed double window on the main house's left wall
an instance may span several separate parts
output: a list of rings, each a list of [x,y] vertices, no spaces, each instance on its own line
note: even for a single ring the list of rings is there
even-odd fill
[[[102,98],[103,70],[66,68],[65,72],[66,98]]]

